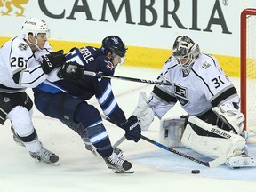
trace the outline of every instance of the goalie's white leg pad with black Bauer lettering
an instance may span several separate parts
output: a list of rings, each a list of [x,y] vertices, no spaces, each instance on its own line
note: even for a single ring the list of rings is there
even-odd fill
[[[207,124],[196,116],[189,116],[181,142],[188,148],[212,158],[225,155],[228,158],[237,153],[241,154],[245,146],[243,137]]]

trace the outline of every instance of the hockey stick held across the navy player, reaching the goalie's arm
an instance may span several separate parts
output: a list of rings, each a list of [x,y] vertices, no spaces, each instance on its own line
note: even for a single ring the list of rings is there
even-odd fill
[[[84,71],[84,75],[86,75],[86,76],[97,76],[98,78],[113,78],[113,79],[119,79],[119,80],[145,83],[145,84],[172,85],[171,83],[168,83],[168,82],[157,82],[157,81],[154,81],[154,80],[132,78],[132,77],[127,77],[127,76],[105,76],[101,73],[96,73],[96,72],[92,72],[92,71]]]

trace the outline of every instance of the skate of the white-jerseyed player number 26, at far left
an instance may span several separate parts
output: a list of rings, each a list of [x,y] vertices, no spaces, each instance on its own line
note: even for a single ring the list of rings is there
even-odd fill
[[[47,150],[46,148],[42,147],[37,152],[29,151],[29,154],[32,158],[36,160],[36,162],[42,162],[45,164],[54,164],[59,161],[59,156],[56,156],[51,151]]]

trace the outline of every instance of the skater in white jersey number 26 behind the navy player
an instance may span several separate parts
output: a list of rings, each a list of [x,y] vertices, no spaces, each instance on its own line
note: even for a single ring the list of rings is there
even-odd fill
[[[47,42],[50,30],[44,20],[26,20],[21,32],[0,49],[0,124],[10,119],[14,137],[22,140],[30,156],[52,164],[59,157],[38,140],[31,120],[33,102],[25,90],[45,79],[60,79],[57,72],[63,63],[63,51],[52,52]]]

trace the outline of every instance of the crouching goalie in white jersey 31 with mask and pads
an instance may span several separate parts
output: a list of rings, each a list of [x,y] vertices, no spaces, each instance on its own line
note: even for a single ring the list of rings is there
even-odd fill
[[[200,52],[188,36],[178,36],[157,79],[172,85],[155,85],[148,100],[145,92],[140,93],[133,115],[140,119],[142,130],[148,130],[154,116],[161,119],[179,101],[188,113],[180,136],[184,146],[213,158],[225,156],[222,163],[230,167],[255,164],[253,158],[244,157],[248,151],[241,136],[246,132],[240,99],[218,60]]]

